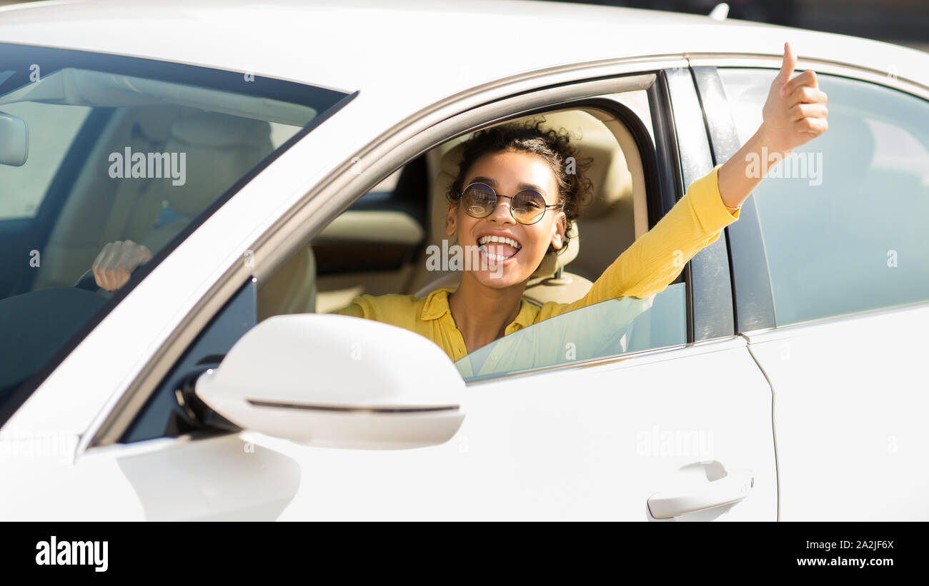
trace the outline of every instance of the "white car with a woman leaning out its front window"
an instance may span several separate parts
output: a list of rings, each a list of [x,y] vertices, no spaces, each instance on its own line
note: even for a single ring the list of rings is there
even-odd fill
[[[0,519],[929,520],[929,56],[724,12],[0,9]],[[458,363],[332,314],[453,283],[456,147],[538,115],[596,200],[527,297],[580,298],[785,41],[829,132],[654,298]],[[98,290],[125,240],[154,258]]]

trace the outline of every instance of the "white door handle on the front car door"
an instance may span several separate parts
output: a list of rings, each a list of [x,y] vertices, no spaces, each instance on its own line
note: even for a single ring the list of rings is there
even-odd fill
[[[738,503],[749,495],[754,487],[754,475],[751,470],[726,471],[718,462],[714,462],[715,470],[722,470],[721,478],[713,479],[713,467],[707,467],[706,474],[700,474],[697,482],[692,479],[689,486],[674,490],[662,490],[648,497],[648,510],[656,519],[667,519],[674,516],[695,513],[712,509],[726,504]],[[687,465],[682,468],[702,467],[702,465]]]

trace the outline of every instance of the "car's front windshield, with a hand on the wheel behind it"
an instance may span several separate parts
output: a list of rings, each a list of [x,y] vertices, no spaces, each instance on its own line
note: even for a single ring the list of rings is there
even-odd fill
[[[41,382],[167,251],[351,96],[44,47],[0,44],[0,64],[2,423],[16,389]],[[150,261],[98,288],[94,261],[128,240]]]

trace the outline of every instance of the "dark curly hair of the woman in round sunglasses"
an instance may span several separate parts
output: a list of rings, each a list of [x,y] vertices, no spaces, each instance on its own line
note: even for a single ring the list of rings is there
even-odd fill
[[[544,121],[543,117],[536,117],[530,121],[509,122],[472,135],[464,142],[458,175],[446,192],[449,201],[458,203],[461,200],[464,177],[476,160],[488,153],[516,150],[541,157],[552,167],[558,183],[558,203],[570,226],[593,200],[593,185],[584,172],[594,159],[578,159],[576,149],[570,145],[569,132],[564,128],[543,129]],[[557,250],[559,253],[568,248],[568,240],[566,234],[564,244]],[[556,248],[549,246],[548,251],[556,251]]]

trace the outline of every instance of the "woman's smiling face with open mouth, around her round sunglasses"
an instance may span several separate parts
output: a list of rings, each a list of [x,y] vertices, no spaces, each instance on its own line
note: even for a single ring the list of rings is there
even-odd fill
[[[501,196],[515,196],[531,188],[542,194],[546,204],[558,202],[555,172],[545,159],[525,152],[510,150],[482,155],[471,165],[462,186],[472,183],[490,185]],[[518,223],[510,213],[510,201],[498,197],[491,215],[480,219],[466,214],[460,204],[449,206],[446,234],[457,232],[465,257],[473,252],[472,258],[480,261],[466,265],[465,269],[470,270],[465,270],[462,278],[477,278],[487,287],[512,287],[529,279],[549,245],[561,248],[566,229],[564,212],[549,208],[536,223]],[[490,236],[509,238],[517,246],[491,241]]]

